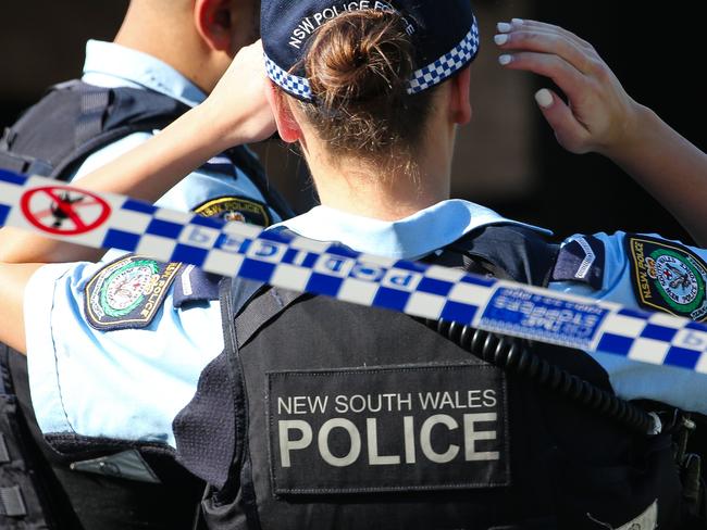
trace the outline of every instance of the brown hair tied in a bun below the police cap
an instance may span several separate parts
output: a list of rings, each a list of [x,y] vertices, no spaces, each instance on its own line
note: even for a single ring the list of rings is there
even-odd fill
[[[324,24],[305,68],[313,102],[306,116],[333,154],[410,160],[424,135],[434,90],[410,96],[414,49],[397,13],[362,10]]]

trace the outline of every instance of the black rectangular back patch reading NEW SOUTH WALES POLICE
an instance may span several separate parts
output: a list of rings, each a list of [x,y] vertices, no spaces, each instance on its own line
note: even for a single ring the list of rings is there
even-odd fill
[[[268,374],[275,495],[510,482],[506,379],[488,365]]]

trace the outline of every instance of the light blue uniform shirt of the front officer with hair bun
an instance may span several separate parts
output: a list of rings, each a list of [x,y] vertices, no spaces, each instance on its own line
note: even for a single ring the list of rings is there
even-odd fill
[[[318,206],[283,225],[305,237],[338,241],[357,251],[415,258],[477,227],[499,223],[513,222],[452,200],[394,223]],[[599,237],[607,244],[606,289],[594,295],[635,305],[622,235]],[[170,293],[149,329],[97,331],[86,324],[83,305],[83,287],[96,270],[97,266],[86,264],[50,265],[39,269],[27,286],[29,375],[39,426],[45,433],[164,441],[174,446],[172,421],[194,396],[201,370],[221,353],[208,340],[210,335],[221,335],[219,308],[211,304],[174,310]],[[553,287],[573,292],[584,289],[567,283]],[[617,363],[608,355],[596,358],[624,398],[660,399],[707,413],[700,376]]]

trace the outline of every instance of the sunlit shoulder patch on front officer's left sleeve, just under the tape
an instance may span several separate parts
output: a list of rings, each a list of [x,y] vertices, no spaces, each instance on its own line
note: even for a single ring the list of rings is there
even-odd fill
[[[88,324],[102,331],[148,327],[181,269],[136,255],[107,265],[86,285]]]

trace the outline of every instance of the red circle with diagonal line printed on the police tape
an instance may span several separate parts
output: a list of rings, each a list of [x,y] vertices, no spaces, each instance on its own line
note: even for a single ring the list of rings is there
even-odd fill
[[[111,206],[100,197],[66,186],[32,189],[22,195],[20,207],[32,225],[62,236],[95,230],[111,215]]]

